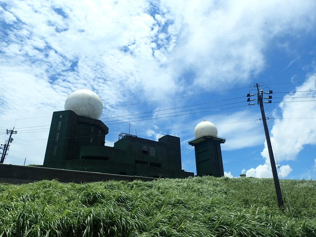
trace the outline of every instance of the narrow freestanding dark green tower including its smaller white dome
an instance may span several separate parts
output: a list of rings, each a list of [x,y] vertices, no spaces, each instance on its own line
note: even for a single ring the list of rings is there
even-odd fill
[[[217,137],[216,126],[203,121],[196,125],[194,136],[189,145],[194,146],[197,176],[224,176],[221,143],[225,143],[225,139]]]

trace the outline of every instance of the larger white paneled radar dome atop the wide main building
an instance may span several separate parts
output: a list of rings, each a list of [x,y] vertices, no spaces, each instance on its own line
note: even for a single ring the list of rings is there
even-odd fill
[[[77,115],[91,119],[99,119],[103,111],[103,104],[100,97],[93,91],[81,89],[67,97],[65,110],[72,110]]]

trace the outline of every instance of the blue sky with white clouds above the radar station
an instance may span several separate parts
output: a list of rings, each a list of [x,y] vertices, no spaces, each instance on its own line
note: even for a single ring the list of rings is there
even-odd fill
[[[205,119],[226,138],[226,176],[272,177],[260,108],[246,102],[258,82],[273,90],[264,108],[283,178],[316,179],[314,9],[315,1],[0,1],[2,144],[6,129],[18,131],[5,163],[42,164],[52,112],[84,88],[103,101],[108,146],[129,124],[138,137],[179,136],[182,167],[195,172],[188,141]]]

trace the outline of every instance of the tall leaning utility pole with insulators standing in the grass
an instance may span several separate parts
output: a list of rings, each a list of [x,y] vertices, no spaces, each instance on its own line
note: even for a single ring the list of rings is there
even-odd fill
[[[283,198],[282,198],[282,192],[281,192],[281,187],[280,187],[280,182],[279,182],[279,178],[277,175],[277,171],[276,171],[276,164],[274,161],[274,155],[273,155],[273,151],[272,151],[272,146],[271,146],[271,141],[270,141],[270,135],[269,135],[269,129],[268,129],[268,125],[267,125],[267,119],[265,117],[265,113],[264,113],[264,108],[263,108],[263,103],[271,103],[271,100],[268,100],[267,102],[263,102],[263,99],[272,99],[272,96],[269,95],[268,98],[263,98],[263,94],[272,94],[272,90],[269,90],[269,92],[263,92],[263,90],[260,90],[259,92],[259,85],[258,83],[256,83],[255,86],[253,87],[257,87],[257,91],[258,91],[258,104],[260,105],[260,109],[261,109],[261,115],[262,115],[262,121],[263,121],[263,127],[264,127],[264,133],[265,133],[265,138],[267,140],[267,146],[268,146],[268,151],[269,151],[269,157],[270,157],[270,163],[271,163],[271,169],[272,169],[272,175],[273,175],[273,181],[274,181],[274,186],[276,189],[276,198],[277,198],[277,202],[279,204],[279,209],[283,208]],[[250,97],[252,95],[247,94],[247,97]],[[252,99],[254,100],[254,99]],[[247,101],[252,101],[250,98],[248,98]],[[249,105],[254,105],[254,104],[250,104]]]

